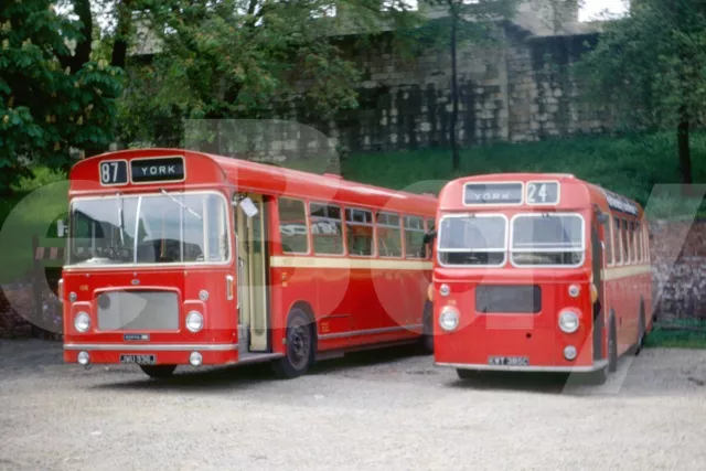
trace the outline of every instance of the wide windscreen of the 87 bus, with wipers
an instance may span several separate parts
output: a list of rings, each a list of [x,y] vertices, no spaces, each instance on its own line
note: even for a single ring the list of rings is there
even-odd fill
[[[69,265],[228,259],[227,206],[215,193],[78,199],[69,221]]]

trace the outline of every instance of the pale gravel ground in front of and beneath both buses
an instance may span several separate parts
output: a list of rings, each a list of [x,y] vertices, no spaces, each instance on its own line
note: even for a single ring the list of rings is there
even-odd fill
[[[276,381],[267,366],[62,363],[0,341],[0,470],[704,470],[706,351],[645,350],[603,386],[545,375],[461,382],[378,351]]]

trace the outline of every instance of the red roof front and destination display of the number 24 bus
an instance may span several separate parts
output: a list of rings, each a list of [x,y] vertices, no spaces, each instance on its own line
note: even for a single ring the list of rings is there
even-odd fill
[[[536,196],[542,185],[545,201]],[[548,201],[548,202],[547,202]],[[642,206],[570,173],[488,173],[456,179],[439,194],[441,211],[502,211],[518,207],[578,210],[597,205],[603,212],[642,217]]]

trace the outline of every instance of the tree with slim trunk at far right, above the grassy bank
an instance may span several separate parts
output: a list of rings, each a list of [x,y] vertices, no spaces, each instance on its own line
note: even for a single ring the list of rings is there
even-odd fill
[[[706,8],[702,0],[641,0],[606,25],[577,65],[587,97],[629,128],[673,129],[682,182],[691,184],[689,129],[706,104]]]

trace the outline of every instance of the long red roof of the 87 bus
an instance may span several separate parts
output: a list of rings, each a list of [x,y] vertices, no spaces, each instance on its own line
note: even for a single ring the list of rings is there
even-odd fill
[[[125,184],[100,184],[100,163],[105,161],[131,161],[159,159],[160,157],[184,157],[185,174],[178,182],[126,181]],[[126,176],[127,179],[127,176]],[[299,170],[258,163],[243,159],[195,152],[184,149],[130,149],[107,152],[77,162],[71,171],[69,195],[113,194],[117,190],[128,192],[152,192],[159,189],[229,186],[238,191],[252,191],[269,195],[307,197],[322,202],[341,201],[362,206],[385,207],[417,214],[432,215],[437,199],[431,194],[416,194],[345,180],[336,174],[315,174]],[[129,179],[128,179],[129,180]]]

